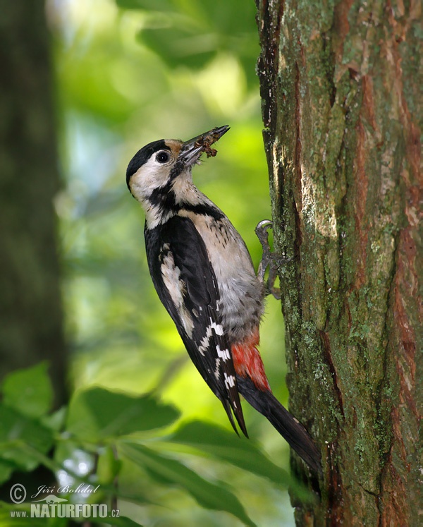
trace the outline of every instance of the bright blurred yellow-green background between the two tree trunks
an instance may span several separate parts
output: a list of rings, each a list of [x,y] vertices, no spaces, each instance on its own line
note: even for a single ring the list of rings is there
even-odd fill
[[[218,155],[194,170],[197,186],[228,214],[257,266],[255,225],[269,218],[262,143],[255,3],[243,0],[49,0],[55,39],[63,189],[56,199],[65,283],[71,386],[100,384],[154,392],[183,420],[230,428],[195,368],[149,279],[144,217],[125,184],[131,157],[160,138],[186,140],[214,126],[231,131]],[[262,356],[287,404],[283,320],[267,302]],[[251,440],[288,469],[288,446],[244,404]],[[178,456],[178,452],[173,453]],[[288,494],[264,478],[204,458],[183,458],[204,478],[231,485],[259,526],[293,525]],[[154,504],[121,504],[154,526],[235,526],[183,491],[152,485],[125,467],[121,485],[142,487]]]

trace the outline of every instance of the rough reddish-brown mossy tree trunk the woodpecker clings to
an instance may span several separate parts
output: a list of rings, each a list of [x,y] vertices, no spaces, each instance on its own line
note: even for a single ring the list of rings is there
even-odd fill
[[[257,0],[290,409],[321,447],[298,526],[419,522],[417,1]],[[296,459],[293,465],[303,478]]]

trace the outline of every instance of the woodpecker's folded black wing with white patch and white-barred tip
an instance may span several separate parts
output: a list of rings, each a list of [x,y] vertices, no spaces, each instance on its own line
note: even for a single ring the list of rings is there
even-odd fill
[[[231,346],[221,325],[219,289],[202,237],[190,219],[175,216],[154,229],[146,227],[145,243],[154,287],[192,362],[235,431],[231,410],[247,435]]]

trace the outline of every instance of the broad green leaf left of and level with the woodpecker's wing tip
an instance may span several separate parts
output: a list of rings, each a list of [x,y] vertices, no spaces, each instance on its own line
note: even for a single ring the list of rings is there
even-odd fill
[[[99,442],[171,425],[178,417],[176,408],[151,396],[135,397],[94,387],[75,393],[66,429],[81,440]]]

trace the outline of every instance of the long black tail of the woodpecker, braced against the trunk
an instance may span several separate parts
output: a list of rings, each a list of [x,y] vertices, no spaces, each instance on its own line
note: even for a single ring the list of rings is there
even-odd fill
[[[274,428],[286,439],[290,447],[304,459],[313,471],[321,475],[320,452],[307,430],[269,391],[257,389],[249,377],[237,375],[238,390],[246,401],[259,413],[269,419]]]

